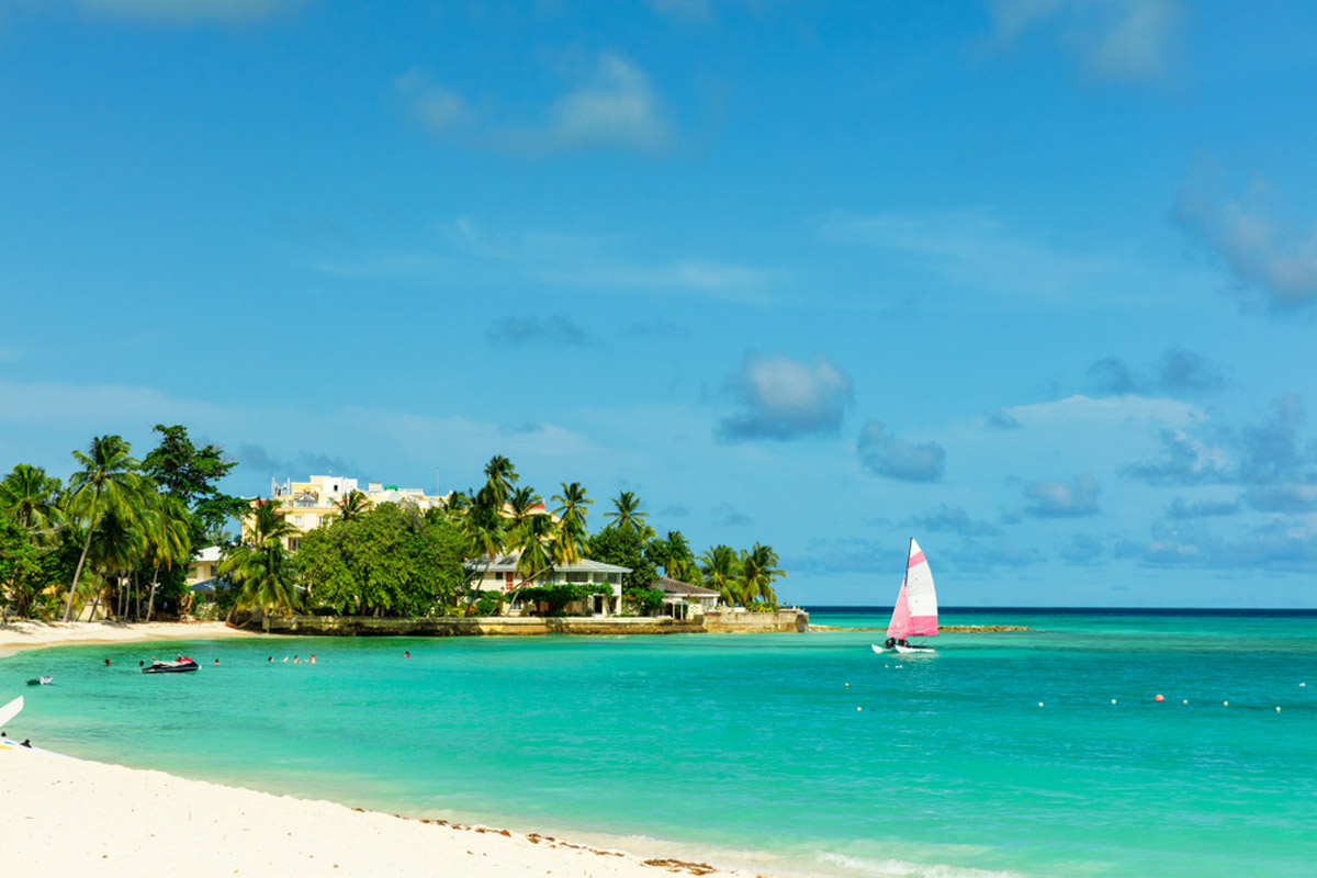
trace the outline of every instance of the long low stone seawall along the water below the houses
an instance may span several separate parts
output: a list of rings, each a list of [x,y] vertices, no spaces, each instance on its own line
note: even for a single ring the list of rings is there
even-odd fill
[[[267,616],[252,627],[270,634],[341,637],[479,637],[543,634],[701,634],[809,631],[805,611],[709,613],[691,620],[631,616],[468,616],[375,619],[373,616]]]

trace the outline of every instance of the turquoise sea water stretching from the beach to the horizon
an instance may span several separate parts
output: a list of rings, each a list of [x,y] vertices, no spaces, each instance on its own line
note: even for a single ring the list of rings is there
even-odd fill
[[[72,756],[752,871],[1317,874],[1317,612],[942,621],[1036,631],[71,646],[0,659],[0,700]]]

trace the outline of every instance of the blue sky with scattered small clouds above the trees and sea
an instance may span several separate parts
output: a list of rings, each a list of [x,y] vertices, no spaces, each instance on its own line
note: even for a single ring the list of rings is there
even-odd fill
[[[780,594],[1317,607],[1317,9],[0,0],[0,467],[639,494]]]

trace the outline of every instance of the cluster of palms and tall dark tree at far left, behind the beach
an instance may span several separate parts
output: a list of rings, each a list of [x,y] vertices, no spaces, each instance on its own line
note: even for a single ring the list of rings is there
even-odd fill
[[[121,436],[72,452],[63,483],[17,463],[0,479],[0,609],[70,620],[103,612],[122,620],[176,613],[188,598],[188,562],[228,540],[246,500],[219,482],[236,466],[180,425],[157,425],[157,448],[138,461]]]

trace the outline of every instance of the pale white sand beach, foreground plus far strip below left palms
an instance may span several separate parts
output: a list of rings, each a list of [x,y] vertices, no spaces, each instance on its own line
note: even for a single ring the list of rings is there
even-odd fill
[[[0,657],[74,644],[259,636],[221,623],[14,621],[0,625]],[[16,694],[0,694],[0,703]],[[61,758],[12,742],[0,745],[0,802],[4,871],[16,875],[753,874]]]

